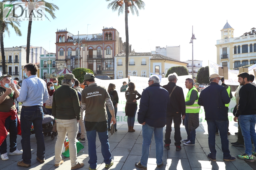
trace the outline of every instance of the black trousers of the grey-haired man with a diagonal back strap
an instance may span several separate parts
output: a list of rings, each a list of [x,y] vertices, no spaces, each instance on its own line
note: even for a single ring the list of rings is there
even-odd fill
[[[164,143],[170,145],[171,143],[171,132],[172,132],[172,121],[174,123],[174,140],[175,146],[180,146],[181,136],[180,136],[180,124],[181,124],[181,114],[180,113],[166,113],[166,129],[165,129],[165,140]]]

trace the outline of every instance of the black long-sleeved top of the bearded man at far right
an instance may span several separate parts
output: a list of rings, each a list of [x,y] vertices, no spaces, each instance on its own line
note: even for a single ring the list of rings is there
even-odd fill
[[[250,83],[239,90],[238,110],[235,116],[256,114],[256,87]]]

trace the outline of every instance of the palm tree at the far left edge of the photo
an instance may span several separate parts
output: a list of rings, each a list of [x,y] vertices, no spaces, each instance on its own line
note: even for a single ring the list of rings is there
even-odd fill
[[[11,26],[16,35],[21,36],[21,31],[18,27],[20,27],[19,21],[11,21],[11,20],[3,20],[3,14],[7,14],[9,11],[8,8],[3,10],[3,2],[0,2],[0,48],[1,48],[1,55],[2,55],[2,69],[3,75],[6,74],[6,63],[5,63],[5,49],[4,49],[4,42],[3,37],[5,36],[4,33],[7,32],[8,36],[10,37],[9,27]]]

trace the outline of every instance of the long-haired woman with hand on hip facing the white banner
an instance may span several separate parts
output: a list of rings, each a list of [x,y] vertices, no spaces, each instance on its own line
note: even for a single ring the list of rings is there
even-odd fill
[[[137,98],[136,95],[138,96]],[[129,82],[128,90],[125,91],[125,98],[125,116],[127,116],[128,132],[135,132],[133,126],[135,122],[135,114],[138,109],[137,100],[141,98],[141,95],[135,90],[135,84],[133,82]]]

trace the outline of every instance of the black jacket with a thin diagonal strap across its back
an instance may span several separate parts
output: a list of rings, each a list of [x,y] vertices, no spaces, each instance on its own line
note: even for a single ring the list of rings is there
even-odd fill
[[[167,85],[162,86],[162,88],[166,89],[169,94],[171,94],[172,89],[176,84],[174,82],[169,82]],[[177,86],[172,92],[172,96],[170,98],[170,105],[167,106],[167,114],[168,113],[177,113],[184,115],[186,112],[186,104],[185,98],[183,94],[183,90],[181,87]]]

